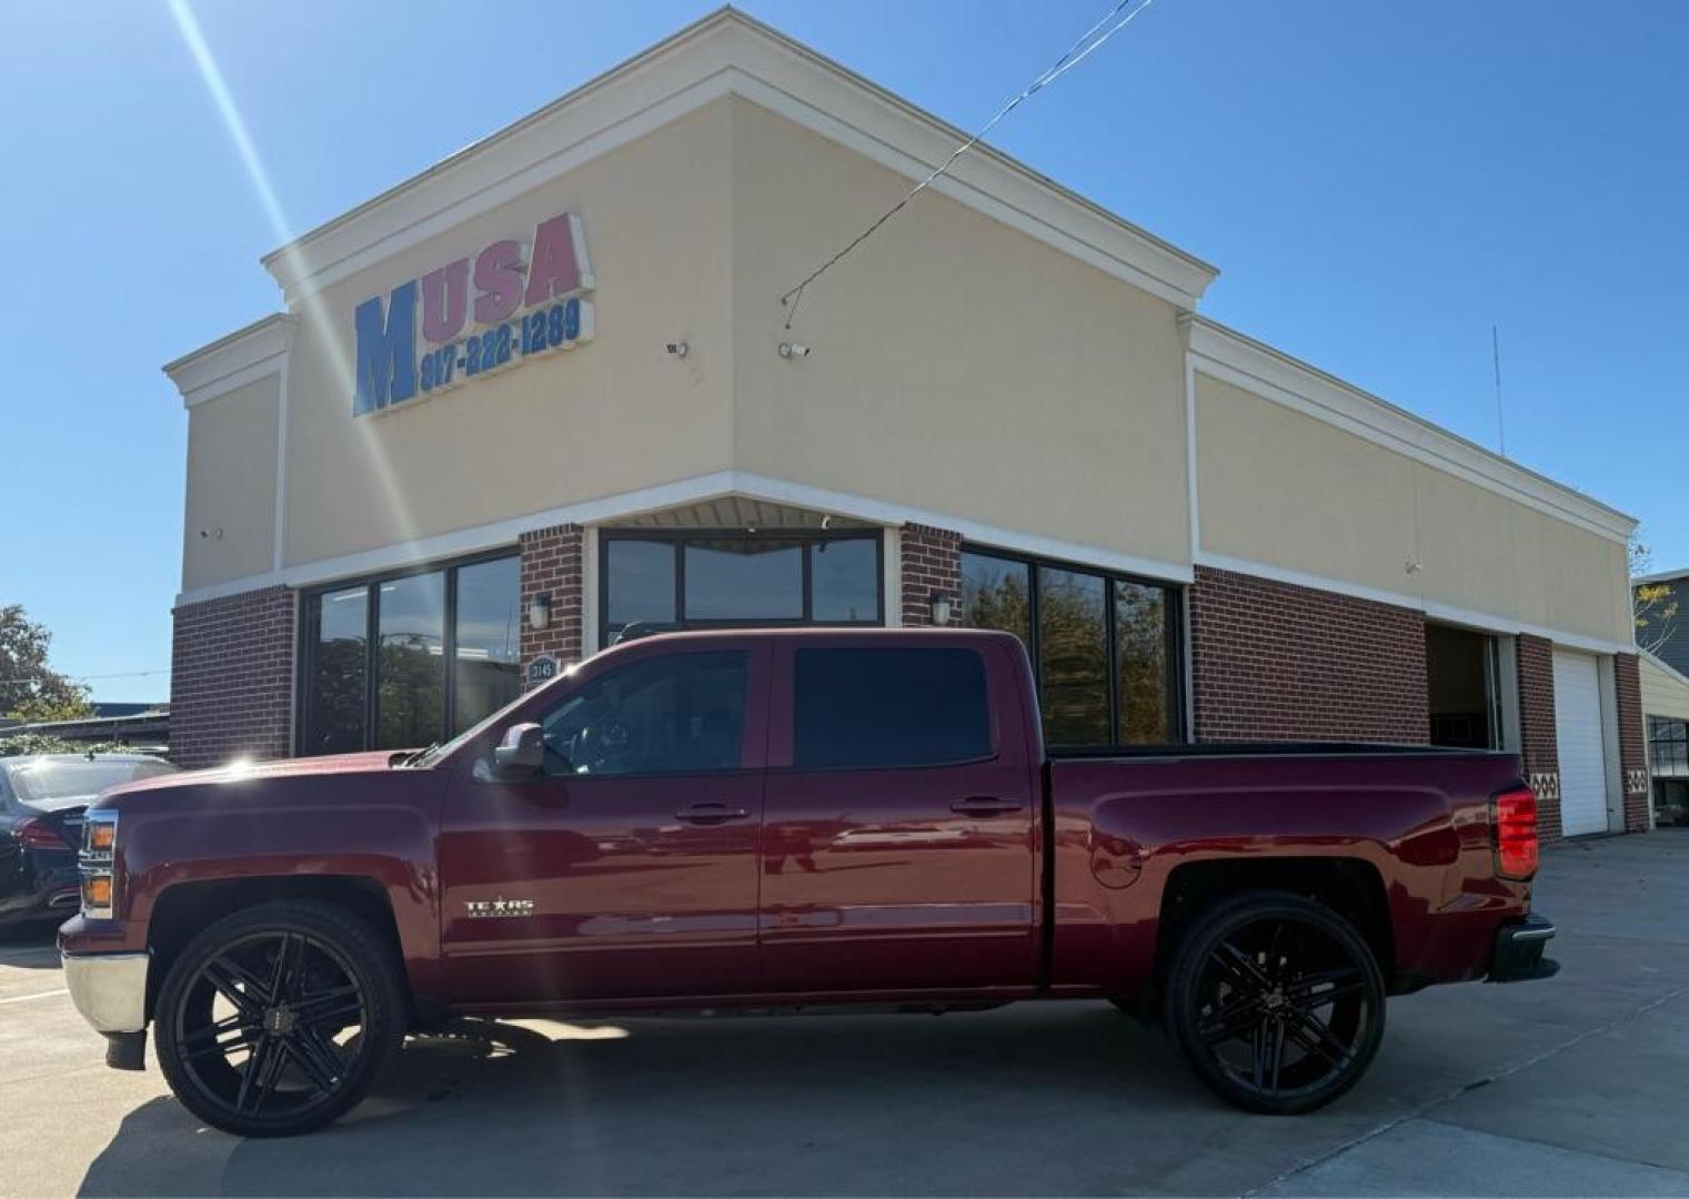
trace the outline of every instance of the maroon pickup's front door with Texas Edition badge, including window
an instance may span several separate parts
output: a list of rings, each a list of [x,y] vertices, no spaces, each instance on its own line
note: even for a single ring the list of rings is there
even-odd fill
[[[459,1003],[760,990],[767,647],[635,647],[542,713],[546,768],[459,777],[441,833]]]

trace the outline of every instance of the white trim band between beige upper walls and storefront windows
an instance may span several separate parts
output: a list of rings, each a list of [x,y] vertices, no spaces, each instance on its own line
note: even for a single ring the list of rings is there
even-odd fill
[[[870,500],[866,496],[848,495],[843,491],[828,491],[824,488],[790,483],[787,480],[768,478],[765,475],[714,471],[709,475],[696,475],[692,478],[677,480],[674,483],[640,488],[637,491],[623,491],[601,500],[586,500],[583,503],[571,503],[561,508],[549,508],[546,512],[532,512],[525,517],[512,520],[495,520],[491,524],[475,525],[473,529],[458,529],[449,534],[422,537],[414,542],[382,545],[378,549],[341,554],[338,557],[324,557],[312,562],[299,562],[296,566],[267,571],[265,574],[252,574],[242,579],[230,579],[228,583],[213,583],[209,586],[193,588],[176,596],[176,606],[201,603],[203,600],[220,600],[243,591],[257,591],[258,588],[319,586],[323,583],[333,583],[334,579],[350,579],[363,574],[414,566],[417,562],[432,562],[463,554],[476,554],[480,551],[497,549],[498,545],[515,545],[517,539],[530,529],[546,529],[549,525],[562,524],[598,525],[611,520],[625,520],[645,512],[660,512],[662,508],[698,503],[701,500],[716,500],[725,495],[743,495],[774,503],[792,503],[817,512],[831,512],[839,517],[866,520],[877,525],[936,525],[939,529],[951,529],[961,534],[966,540],[995,545],[998,549],[1018,551],[1039,557],[1056,557],[1100,569],[1142,574],[1167,579],[1169,583],[1191,581],[1191,567],[1181,562],[1160,562],[1094,545],[1054,540],[1037,534],[985,525],[976,520],[961,520],[942,512],[907,508],[883,500]]]

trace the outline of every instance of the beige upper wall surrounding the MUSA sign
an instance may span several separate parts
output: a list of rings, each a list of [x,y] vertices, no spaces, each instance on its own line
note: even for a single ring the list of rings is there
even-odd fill
[[[730,117],[701,108],[297,309],[287,564],[730,464]],[[562,211],[586,226],[593,343],[351,415],[356,304]],[[677,339],[686,360],[664,353]]]

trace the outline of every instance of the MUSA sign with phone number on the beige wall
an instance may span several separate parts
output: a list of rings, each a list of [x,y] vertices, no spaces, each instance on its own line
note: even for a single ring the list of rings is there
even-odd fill
[[[593,339],[593,269],[581,218],[540,221],[532,245],[493,241],[358,304],[353,415]],[[421,341],[421,346],[419,346]]]

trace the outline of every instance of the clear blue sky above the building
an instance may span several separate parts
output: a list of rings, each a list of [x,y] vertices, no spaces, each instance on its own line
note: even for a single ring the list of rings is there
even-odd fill
[[[193,10],[302,231],[711,7]],[[1108,5],[743,7],[971,128]],[[1218,265],[1206,314],[1491,448],[1498,324],[1508,454],[1689,566],[1686,61],[1674,0],[1157,0],[991,140]],[[96,697],[160,699],[186,415],[159,366],[279,307],[284,231],[162,0],[14,10],[0,110],[0,603]]]

